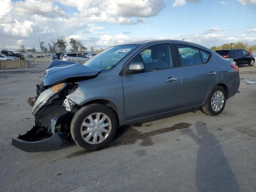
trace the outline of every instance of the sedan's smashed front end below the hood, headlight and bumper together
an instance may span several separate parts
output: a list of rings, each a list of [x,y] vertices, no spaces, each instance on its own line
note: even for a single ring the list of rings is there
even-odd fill
[[[70,123],[78,105],[66,98],[78,84],[61,83],[44,90],[36,99],[29,98],[33,106],[35,125],[24,135],[12,139],[12,145],[26,152],[57,150],[72,141]]]

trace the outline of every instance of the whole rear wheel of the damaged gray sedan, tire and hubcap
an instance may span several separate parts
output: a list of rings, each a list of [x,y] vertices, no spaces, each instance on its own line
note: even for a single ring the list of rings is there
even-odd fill
[[[214,101],[213,96],[214,96],[214,94],[216,96],[217,92],[219,92],[219,93],[222,92],[222,94],[219,94],[220,97],[216,101],[217,107],[216,107],[216,105],[215,106],[213,105],[213,107],[212,107],[212,104],[213,104],[212,102]],[[205,114],[208,114],[211,116],[219,115],[224,110],[224,107],[226,105],[226,99],[227,99],[227,95],[226,95],[226,91],[224,90],[224,88],[221,86],[215,86],[212,89],[212,91],[210,92],[210,94],[208,95],[208,98],[206,99],[206,102],[205,102],[204,106],[202,107],[203,112]],[[223,102],[222,102],[222,100],[223,100]]]

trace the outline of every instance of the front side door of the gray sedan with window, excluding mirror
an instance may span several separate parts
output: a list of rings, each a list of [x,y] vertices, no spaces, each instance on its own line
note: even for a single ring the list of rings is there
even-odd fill
[[[180,108],[181,77],[170,44],[148,46],[129,61],[142,62],[145,72],[122,75],[126,120]]]

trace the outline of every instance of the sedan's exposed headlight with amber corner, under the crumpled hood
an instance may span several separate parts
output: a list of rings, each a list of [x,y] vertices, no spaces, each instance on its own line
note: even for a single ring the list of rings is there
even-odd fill
[[[48,89],[46,89],[44,92],[42,92],[40,94],[40,96],[38,96],[38,98],[36,99],[36,102],[34,104],[34,107],[32,109],[32,114],[36,115],[36,113],[38,112],[38,110],[40,110],[40,108],[42,108],[44,106],[44,104],[46,104],[46,102],[55,94],[57,94],[58,92],[60,92],[61,90],[63,90],[66,87],[66,83],[61,83],[55,86],[52,86]]]

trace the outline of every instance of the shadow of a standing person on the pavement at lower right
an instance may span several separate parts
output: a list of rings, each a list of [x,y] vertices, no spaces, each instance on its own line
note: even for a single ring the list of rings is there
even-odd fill
[[[240,192],[220,142],[208,131],[204,122],[196,122],[196,133],[183,131],[198,144],[196,157],[196,187],[198,192]]]

